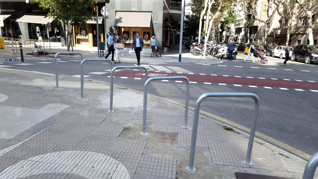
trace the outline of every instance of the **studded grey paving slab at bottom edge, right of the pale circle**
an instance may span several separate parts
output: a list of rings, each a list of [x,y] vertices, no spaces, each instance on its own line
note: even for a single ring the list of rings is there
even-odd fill
[[[176,178],[176,159],[142,155],[134,179]]]

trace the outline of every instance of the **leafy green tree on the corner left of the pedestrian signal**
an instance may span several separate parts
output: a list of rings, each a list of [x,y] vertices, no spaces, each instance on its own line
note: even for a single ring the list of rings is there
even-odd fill
[[[37,3],[44,11],[49,11],[48,16],[54,17],[58,23],[66,22],[66,43],[67,51],[70,51],[73,31],[68,30],[68,23],[86,28],[86,21],[93,20],[91,7],[97,3],[97,0],[33,0],[32,4]],[[73,46],[72,46],[73,50]]]

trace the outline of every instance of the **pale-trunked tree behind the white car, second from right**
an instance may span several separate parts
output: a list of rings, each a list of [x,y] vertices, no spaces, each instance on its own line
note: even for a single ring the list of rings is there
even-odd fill
[[[286,45],[289,42],[290,37],[290,28],[292,25],[292,17],[293,17],[293,11],[290,11],[291,8],[294,7],[294,0],[273,0],[273,3],[276,5],[276,12],[282,17],[284,20],[287,20],[287,34],[286,34]],[[283,13],[281,9],[286,10],[286,13]]]

